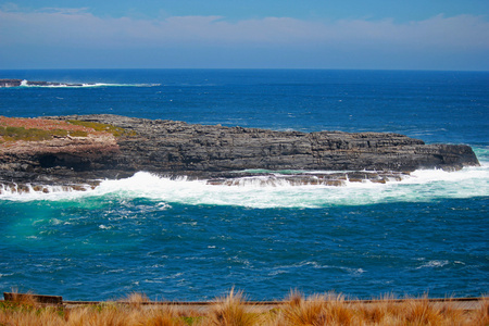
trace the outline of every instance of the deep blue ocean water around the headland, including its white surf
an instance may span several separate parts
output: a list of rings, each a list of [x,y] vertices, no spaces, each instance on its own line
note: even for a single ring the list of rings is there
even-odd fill
[[[489,73],[0,71],[0,115],[111,113],[471,145],[480,167],[386,185],[208,186],[138,173],[92,191],[0,195],[0,291],[67,300],[489,292]],[[90,84],[90,85],[88,85]],[[95,84],[95,85],[91,85]],[[53,189],[55,190],[55,189]]]

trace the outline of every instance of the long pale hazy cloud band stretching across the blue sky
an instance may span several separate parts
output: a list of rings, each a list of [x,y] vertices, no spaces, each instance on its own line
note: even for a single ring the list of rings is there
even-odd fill
[[[411,46],[489,47],[489,23],[482,17],[437,15],[396,24],[383,21],[310,22],[266,17],[226,22],[222,16],[173,16],[162,21],[97,17],[86,9],[0,11],[2,42],[53,43],[60,40],[100,45],[152,45],[167,41],[246,43],[384,42]],[[22,36],[22,37],[21,37]]]

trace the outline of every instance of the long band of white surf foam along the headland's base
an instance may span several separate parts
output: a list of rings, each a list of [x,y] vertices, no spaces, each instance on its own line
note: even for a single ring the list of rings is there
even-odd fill
[[[383,202],[425,202],[442,198],[485,197],[489,193],[489,166],[467,167],[459,172],[416,171],[400,181],[375,184],[346,181],[343,187],[324,185],[293,186],[275,176],[241,178],[235,186],[208,185],[186,177],[171,179],[139,172],[130,178],[103,180],[95,190],[66,191],[51,187],[49,193],[18,193],[0,188],[0,199],[78,200],[87,197],[116,199],[146,198],[166,209],[172,203],[191,205],[238,205],[249,208],[326,208]]]

